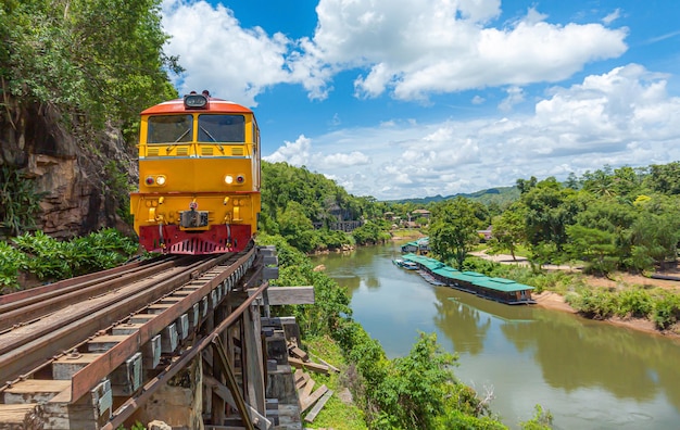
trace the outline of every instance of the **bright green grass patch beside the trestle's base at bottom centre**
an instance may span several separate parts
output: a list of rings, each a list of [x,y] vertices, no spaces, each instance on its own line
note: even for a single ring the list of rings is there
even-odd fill
[[[340,380],[343,370],[347,368],[340,347],[329,337],[307,339],[302,346],[310,354],[310,358],[312,361],[318,362],[318,358],[320,357],[325,362],[340,369],[340,374],[331,371],[328,376],[320,374],[311,375],[312,379],[315,381],[314,388],[326,384],[326,387],[333,391],[333,394],[328,400],[322,412],[316,416],[314,422],[306,423],[305,428],[366,430],[367,427],[364,420],[363,412],[354,404],[348,405],[343,403],[338,395],[342,390],[344,390]]]

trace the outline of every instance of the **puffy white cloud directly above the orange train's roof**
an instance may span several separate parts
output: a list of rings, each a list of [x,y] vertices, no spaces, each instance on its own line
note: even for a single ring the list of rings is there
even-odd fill
[[[163,29],[172,35],[165,50],[187,68],[175,83],[180,93],[209,89],[254,106],[268,86],[292,80],[285,69],[291,41],[282,34],[244,29],[229,9],[204,1],[164,0],[162,15]]]

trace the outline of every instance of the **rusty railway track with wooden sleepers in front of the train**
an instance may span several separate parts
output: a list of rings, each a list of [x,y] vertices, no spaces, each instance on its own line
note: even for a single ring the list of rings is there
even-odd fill
[[[129,415],[114,403],[134,404],[201,341],[202,324],[249,284],[257,257],[251,248],[161,258],[1,296],[0,429],[3,410],[17,407],[40,409],[45,428],[111,428]]]

